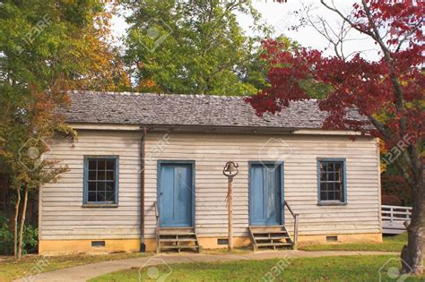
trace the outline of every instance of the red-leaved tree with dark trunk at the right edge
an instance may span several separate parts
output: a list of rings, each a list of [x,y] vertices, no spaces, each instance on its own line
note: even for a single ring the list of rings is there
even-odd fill
[[[425,187],[423,183],[424,63],[423,15],[425,3],[413,0],[362,0],[345,14],[321,0],[337,13],[351,29],[372,38],[380,59],[374,62],[360,54],[324,56],[317,50],[300,48],[287,51],[282,44],[264,42],[265,59],[270,64],[270,87],[247,98],[257,114],[275,113],[288,107],[291,100],[307,99],[300,86],[313,80],[332,87],[318,101],[328,112],[325,129],[349,129],[377,136],[400,156],[395,166],[412,187],[413,212],[408,226],[408,244],[403,248],[404,273],[423,273],[422,235],[425,228]],[[367,117],[367,124],[346,118],[356,108]],[[370,126],[372,124],[373,126]],[[400,146],[403,144],[403,146]]]

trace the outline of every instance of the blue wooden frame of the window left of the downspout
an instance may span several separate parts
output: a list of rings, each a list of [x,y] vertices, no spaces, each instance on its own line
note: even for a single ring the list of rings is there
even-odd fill
[[[89,201],[89,160],[91,159],[114,159],[115,160],[115,199],[111,201]],[[83,207],[117,207],[119,192],[119,158],[118,156],[84,156],[83,164]]]

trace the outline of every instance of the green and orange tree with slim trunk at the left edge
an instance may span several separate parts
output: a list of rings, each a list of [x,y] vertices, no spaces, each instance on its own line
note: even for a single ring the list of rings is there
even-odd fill
[[[0,164],[17,194],[18,259],[29,191],[37,192],[67,170],[58,160],[43,158],[50,150],[49,138],[75,136],[56,115],[56,107],[67,105],[70,88],[126,86],[116,54],[103,40],[110,13],[100,1],[0,1]]]

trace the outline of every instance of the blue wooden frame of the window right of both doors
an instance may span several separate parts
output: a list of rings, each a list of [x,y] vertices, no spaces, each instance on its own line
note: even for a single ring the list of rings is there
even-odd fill
[[[341,200],[322,200],[321,199],[321,185],[320,177],[321,170],[320,164],[322,162],[340,162],[343,173],[343,199]],[[345,158],[317,158],[317,205],[318,206],[345,206],[347,205],[347,166]]]

